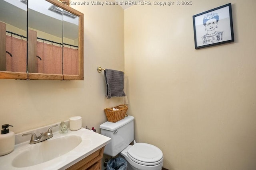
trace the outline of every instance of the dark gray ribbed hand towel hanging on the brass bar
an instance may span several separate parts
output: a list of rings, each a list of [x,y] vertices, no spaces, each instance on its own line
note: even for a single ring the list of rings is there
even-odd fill
[[[106,79],[108,99],[112,97],[123,97],[126,96],[124,93],[124,72],[105,69],[104,75]]]

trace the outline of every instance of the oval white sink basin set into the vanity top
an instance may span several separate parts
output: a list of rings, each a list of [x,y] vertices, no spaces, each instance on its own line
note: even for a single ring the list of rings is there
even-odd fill
[[[82,142],[82,138],[76,135],[58,137],[53,140],[46,140],[38,145],[33,144],[12,161],[12,166],[21,168],[33,166],[52,160],[58,156],[66,154],[77,147]]]

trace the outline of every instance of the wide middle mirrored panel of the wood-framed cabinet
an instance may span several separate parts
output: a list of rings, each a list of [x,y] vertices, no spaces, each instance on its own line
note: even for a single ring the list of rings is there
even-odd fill
[[[29,73],[62,74],[62,13],[46,0],[29,0]]]

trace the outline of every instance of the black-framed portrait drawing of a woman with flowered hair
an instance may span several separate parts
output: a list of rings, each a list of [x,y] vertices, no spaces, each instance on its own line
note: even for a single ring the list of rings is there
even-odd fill
[[[234,41],[231,3],[193,16],[195,48]]]

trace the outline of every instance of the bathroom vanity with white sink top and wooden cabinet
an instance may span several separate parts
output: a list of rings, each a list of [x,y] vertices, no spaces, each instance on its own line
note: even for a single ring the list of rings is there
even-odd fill
[[[14,151],[0,156],[0,169],[101,170],[104,147],[111,140],[109,137],[84,128],[68,129],[68,133],[60,134],[58,127],[52,129],[52,138],[40,143],[29,144],[30,136],[21,137],[24,133],[40,134],[48,127],[16,134]]]

